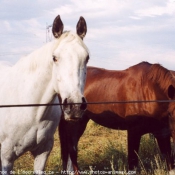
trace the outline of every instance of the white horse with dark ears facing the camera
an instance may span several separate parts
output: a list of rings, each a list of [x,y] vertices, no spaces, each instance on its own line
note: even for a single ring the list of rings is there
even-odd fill
[[[10,174],[14,161],[26,151],[34,156],[34,173],[44,173],[61,115],[64,114],[65,120],[81,118],[86,109],[83,90],[89,58],[83,43],[86,31],[86,22],[80,17],[77,34],[63,33],[63,23],[58,15],[52,28],[54,41],[22,58],[14,66],[0,66],[0,105],[64,104],[63,108],[0,108],[3,174]]]

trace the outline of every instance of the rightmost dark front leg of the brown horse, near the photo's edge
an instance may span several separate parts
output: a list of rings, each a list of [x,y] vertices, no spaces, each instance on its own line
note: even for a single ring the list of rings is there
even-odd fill
[[[171,153],[171,142],[170,142],[170,135],[169,136],[156,136],[157,143],[159,145],[159,149],[162,153],[162,155],[165,157],[168,169],[173,169],[174,159],[173,154]]]

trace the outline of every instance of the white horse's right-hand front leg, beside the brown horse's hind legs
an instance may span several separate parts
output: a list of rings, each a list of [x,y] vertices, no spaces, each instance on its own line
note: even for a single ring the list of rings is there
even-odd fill
[[[35,174],[44,174],[44,168],[47,158],[53,148],[53,139],[47,140],[36,150],[31,151],[34,156],[34,172]]]

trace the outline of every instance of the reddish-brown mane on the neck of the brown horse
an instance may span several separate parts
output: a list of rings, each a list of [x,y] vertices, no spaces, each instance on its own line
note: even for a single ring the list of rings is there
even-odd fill
[[[160,64],[152,64],[146,76],[158,84],[164,92],[167,92],[170,85],[175,85],[172,73]]]

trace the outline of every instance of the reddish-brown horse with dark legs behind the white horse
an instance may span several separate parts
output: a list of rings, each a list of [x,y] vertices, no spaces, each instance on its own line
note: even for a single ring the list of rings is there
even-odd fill
[[[85,86],[88,102],[149,101],[174,99],[175,80],[172,73],[159,64],[142,62],[124,71],[111,71],[89,67]],[[154,133],[160,150],[166,155],[172,168],[170,133],[167,129],[169,112],[175,120],[175,103],[112,103],[88,105],[83,118],[76,123],[61,120],[59,134],[62,148],[63,168],[78,173],[77,145],[89,119],[96,123],[120,130],[128,130],[129,169],[137,165],[140,138]],[[168,111],[169,110],[169,111]],[[174,122],[171,125],[174,136]],[[163,135],[156,134],[160,131]],[[72,168],[70,168],[72,167]]]

